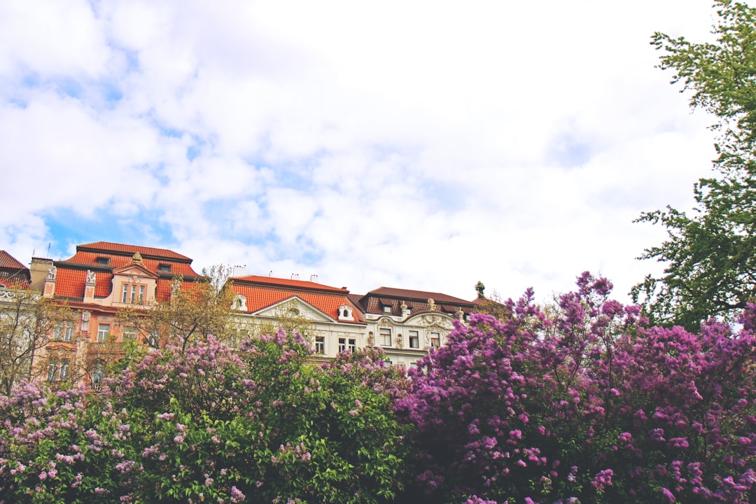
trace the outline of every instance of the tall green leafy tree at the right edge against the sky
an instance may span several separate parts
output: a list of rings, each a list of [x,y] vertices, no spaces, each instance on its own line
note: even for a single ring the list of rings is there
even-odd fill
[[[662,224],[668,239],[641,255],[665,263],[631,291],[655,323],[696,329],[708,317],[733,320],[756,294],[756,9],[717,0],[716,43],[657,32],[652,44],[690,105],[717,117],[717,176],[694,187],[692,215],[668,206],[637,221]]]

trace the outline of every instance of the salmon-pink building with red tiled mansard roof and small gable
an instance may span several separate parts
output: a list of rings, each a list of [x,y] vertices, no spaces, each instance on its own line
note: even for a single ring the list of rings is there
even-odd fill
[[[64,337],[53,338],[39,355],[48,380],[76,378],[76,370],[98,385],[108,357],[136,336],[135,328],[118,323],[119,308],[168,301],[172,289],[191,286],[200,278],[191,261],[168,249],[109,242],[76,246],[76,254],[64,261],[32,258],[32,286],[76,315]],[[175,284],[178,275],[182,280]]]

